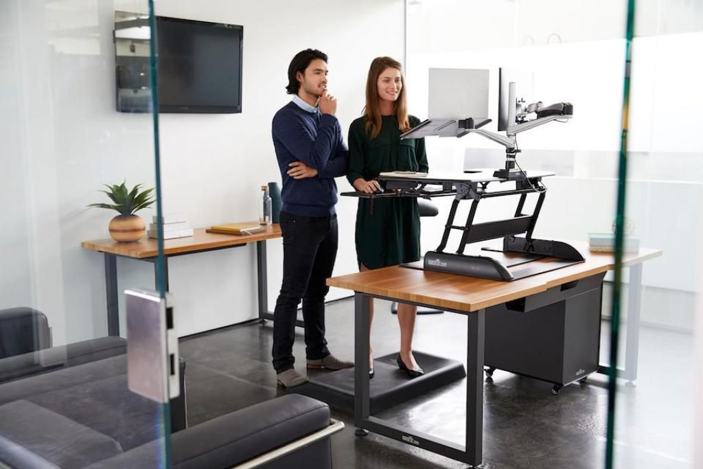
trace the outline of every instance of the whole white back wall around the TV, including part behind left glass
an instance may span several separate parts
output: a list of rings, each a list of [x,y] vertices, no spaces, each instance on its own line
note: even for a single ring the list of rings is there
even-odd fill
[[[290,99],[286,72],[295,53],[308,47],[328,53],[344,134],[361,114],[370,60],[404,54],[402,0],[155,3],[160,15],[244,26],[243,112],[160,116],[165,212],[184,212],[193,226],[256,219],[259,185],[280,182],[271,118]],[[103,257],[79,245],[107,237],[113,213],[85,205],[105,201],[96,192],[101,184],[125,178],[155,184],[152,116],[117,113],[114,96],[114,11],[143,13],[146,6],[146,0],[0,4],[0,27],[8,32],[0,34],[0,186],[8,203],[4,221],[16,226],[0,233],[0,307],[41,309],[56,344],[107,333]],[[344,179],[337,184],[349,189]],[[355,202],[345,198],[338,208],[335,274],[356,270]],[[153,211],[140,214],[149,219]],[[255,317],[254,262],[253,247],[172,259],[179,333]],[[280,240],[273,241],[271,308],[281,263]],[[120,291],[154,288],[151,264],[118,259],[117,266]]]

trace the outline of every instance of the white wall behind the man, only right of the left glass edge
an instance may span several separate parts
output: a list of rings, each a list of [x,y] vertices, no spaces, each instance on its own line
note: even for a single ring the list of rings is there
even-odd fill
[[[275,15],[271,15],[275,12]],[[157,4],[160,15],[244,26],[243,112],[236,115],[160,115],[165,212],[185,212],[194,226],[252,220],[258,216],[259,186],[280,174],[271,142],[271,119],[290,101],[285,94],[290,59],[302,49],[329,56],[329,88],[346,138],[361,115],[368,65],[375,56],[403,59],[404,1],[232,2],[210,0]],[[384,37],[378,41],[379,32]],[[349,191],[346,179],[337,179]],[[356,271],[356,200],[337,205],[340,251],[335,275]],[[280,240],[267,243],[269,309],[280,288]],[[187,335],[257,316],[252,266],[255,248],[237,248],[172,259],[170,290],[176,295],[176,324]],[[328,299],[347,296],[334,290]]]

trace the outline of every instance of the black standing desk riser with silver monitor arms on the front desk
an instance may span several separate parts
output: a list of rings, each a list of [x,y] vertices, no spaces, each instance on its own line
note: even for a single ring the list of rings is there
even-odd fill
[[[510,102],[514,102],[515,84],[510,84]],[[375,194],[365,194],[359,192],[347,192],[342,195],[352,195],[362,198],[387,198],[387,197],[422,197],[431,198],[441,195],[454,195],[455,198],[449,211],[449,218],[444,227],[444,234],[437,250],[428,251],[425,254],[423,269],[432,271],[451,272],[467,276],[481,278],[491,278],[500,281],[512,281],[517,278],[524,278],[531,275],[541,274],[546,271],[560,269],[562,267],[583,262],[581,253],[571,245],[556,240],[541,240],[532,237],[534,227],[539,216],[545,195],[546,187],[541,179],[543,176],[550,176],[548,172],[524,172],[519,167],[515,167],[515,155],[520,152],[517,149],[515,134],[520,131],[546,124],[551,120],[569,119],[573,115],[573,106],[570,103],[558,103],[542,107],[541,103],[536,103],[533,110],[536,115],[534,120],[526,118],[515,119],[515,110],[508,116],[508,122],[517,122],[509,126],[506,135],[481,129],[490,122],[488,119],[475,120],[467,118],[465,120],[425,120],[418,126],[401,134],[401,139],[421,138],[423,136],[455,135],[462,137],[467,134],[477,133],[488,139],[501,143],[505,146],[505,168],[498,169],[493,174],[487,172],[472,172],[468,177],[458,178],[435,178],[432,174],[408,174],[382,173],[378,176],[382,191]],[[475,174],[472,177],[471,174]],[[505,191],[489,192],[486,190],[490,182],[514,182],[515,188]],[[427,189],[427,186],[441,186],[440,189]],[[527,195],[538,194],[538,200],[532,214],[524,214],[524,204]],[[474,223],[474,217],[480,200],[484,198],[502,197],[507,195],[520,195],[517,203],[515,215],[512,218],[489,221],[484,223]],[[455,224],[456,210],[460,200],[472,200],[472,205],[463,225]],[[451,230],[463,231],[456,254],[444,252],[449,233]],[[520,235],[525,233],[524,237]],[[517,253],[509,259],[508,265],[490,255],[465,255],[464,250],[467,244],[477,243],[485,240],[503,238],[503,252]],[[484,248],[485,249],[485,248]],[[488,250],[486,250],[488,252]],[[510,257],[510,256],[508,256]],[[534,262],[543,257],[556,258],[554,262],[536,262],[531,265],[523,265]],[[418,265],[407,264],[406,266],[419,267]],[[520,268],[510,269],[521,266]]]

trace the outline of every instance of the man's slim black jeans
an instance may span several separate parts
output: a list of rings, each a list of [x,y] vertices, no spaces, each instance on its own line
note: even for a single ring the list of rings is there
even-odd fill
[[[298,303],[303,300],[305,353],[308,359],[330,354],[325,340],[325,285],[337,257],[337,215],[300,217],[280,212],[283,233],[283,283],[273,311],[273,368],[293,368]]]

